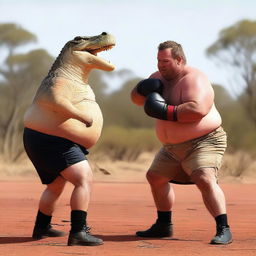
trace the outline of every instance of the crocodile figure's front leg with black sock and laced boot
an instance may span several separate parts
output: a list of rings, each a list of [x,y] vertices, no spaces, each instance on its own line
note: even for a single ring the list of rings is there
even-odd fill
[[[103,241],[92,236],[86,217],[90,202],[92,170],[87,160],[69,166],[61,172],[62,177],[74,185],[70,199],[71,230],[68,245],[100,245]]]

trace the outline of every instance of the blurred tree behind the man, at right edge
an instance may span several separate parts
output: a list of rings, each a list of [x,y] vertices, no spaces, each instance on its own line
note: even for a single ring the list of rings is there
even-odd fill
[[[235,88],[244,94],[240,102],[256,124],[256,21],[242,20],[221,30],[207,55],[231,67],[234,77],[239,77]]]

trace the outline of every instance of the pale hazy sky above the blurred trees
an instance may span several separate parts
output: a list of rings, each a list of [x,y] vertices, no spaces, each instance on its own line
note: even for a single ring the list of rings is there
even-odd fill
[[[228,90],[232,74],[209,59],[206,49],[222,29],[256,20],[255,12],[255,0],[0,0],[0,23],[16,23],[37,36],[29,49],[43,48],[57,57],[75,36],[106,31],[116,46],[100,56],[116,71],[129,69],[147,78],[157,70],[159,43],[173,40],[182,44],[188,65]],[[109,88],[117,89],[122,79],[109,81]]]

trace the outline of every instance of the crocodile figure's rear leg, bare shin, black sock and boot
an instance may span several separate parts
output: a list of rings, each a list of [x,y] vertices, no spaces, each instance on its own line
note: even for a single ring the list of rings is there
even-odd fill
[[[39,209],[36,217],[35,227],[32,237],[34,239],[41,239],[43,237],[64,236],[62,231],[55,230],[51,227],[52,213],[59,196],[61,195],[66,181],[62,177],[57,177],[51,184],[48,184],[41,195],[39,201]]]

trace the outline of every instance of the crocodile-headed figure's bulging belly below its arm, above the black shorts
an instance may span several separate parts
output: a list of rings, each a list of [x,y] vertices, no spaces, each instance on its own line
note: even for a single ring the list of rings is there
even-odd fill
[[[103,126],[103,117],[97,103],[83,104],[83,111],[92,113],[91,127],[78,120],[59,115],[59,113],[32,105],[24,116],[24,126],[49,135],[63,137],[85,148],[92,147],[99,139]]]

